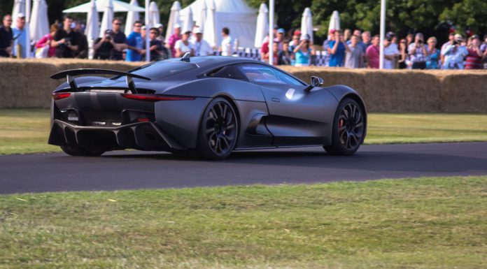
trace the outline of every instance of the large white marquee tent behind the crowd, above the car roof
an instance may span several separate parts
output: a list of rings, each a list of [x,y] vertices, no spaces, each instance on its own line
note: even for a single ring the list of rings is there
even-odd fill
[[[196,0],[190,6],[181,10],[181,19],[184,20],[188,9],[191,8],[193,19],[200,22],[201,10],[205,0]],[[257,10],[250,8],[245,0],[214,0],[216,6],[216,29],[218,31],[218,45],[222,37],[220,31],[223,27],[230,29],[230,36],[239,40],[239,45],[253,48],[255,27],[257,25]],[[209,2],[206,3],[209,6]],[[204,29],[206,36],[206,29]],[[206,38],[205,38],[206,39]]]

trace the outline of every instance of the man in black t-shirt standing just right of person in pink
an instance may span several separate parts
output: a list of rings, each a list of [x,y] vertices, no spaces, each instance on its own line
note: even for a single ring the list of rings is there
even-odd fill
[[[71,17],[64,17],[62,29],[57,30],[54,35],[51,45],[56,47],[56,57],[58,58],[73,58],[73,52],[78,50],[76,33],[71,29],[71,23],[73,23]]]

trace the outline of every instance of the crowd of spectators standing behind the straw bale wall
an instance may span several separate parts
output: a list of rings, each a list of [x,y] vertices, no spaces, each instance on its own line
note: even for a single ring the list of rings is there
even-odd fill
[[[87,37],[83,34],[83,23],[66,16],[62,24],[55,22],[50,26],[50,33],[33,44],[26,44],[25,16],[19,13],[13,23],[10,15],[3,16],[0,27],[0,57],[25,58],[34,52],[36,58],[88,58],[125,61],[146,61],[146,34],[149,34],[150,61],[192,56],[211,55],[218,52],[231,56],[237,50],[237,40],[230,36],[230,29],[221,31],[222,41],[212,47],[203,39],[203,31],[195,27],[192,31],[181,32],[181,25],[174,25],[174,31],[164,41],[164,27],[157,24],[146,29],[139,21],[132,25],[132,32],[125,36],[121,31],[122,20],[113,19],[112,29],[106,30],[93,41],[94,53],[90,55]],[[260,59],[269,61],[269,50],[273,52],[272,62],[276,65],[309,66],[316,59],[316,47],[311,37],[299,30],[288,31],[274,28],[274,45],[269,48],[269,36],[264,38],[260,48]],[[409,69],[481,69],[487,68],[487,36],[484,42],[479,36],[464,38],[451,33],[449,41],[441,47],[434,36],[425,42],[423,34],[408,34],[397,38],[388,32],[383,41],[383,68]],[[346,68],[379,68],[380,38],[369,31],[358,29],[331,30],[323,42],[324,65]],[[90,58],[91,58],[90,57]]]

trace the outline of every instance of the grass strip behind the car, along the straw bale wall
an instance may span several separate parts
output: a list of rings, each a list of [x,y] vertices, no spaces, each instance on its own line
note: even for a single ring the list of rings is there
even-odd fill
[[[47,144],[49,110],[0,109],[0,154],[59,152]],[[487,141],[487,115],[372,113],[366,144]]]

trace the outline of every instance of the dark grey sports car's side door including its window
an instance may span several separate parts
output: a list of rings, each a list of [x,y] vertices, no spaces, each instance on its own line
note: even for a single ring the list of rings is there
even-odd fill
[[[269,117],[267,129],[274,135],[274,145],[323,145],[330,128],[337,100],[322,88],[306,91],[300,80],[264,64],[241,64],[249,82],[262,89]],[[331,119],[331,122],[330,122]]]

